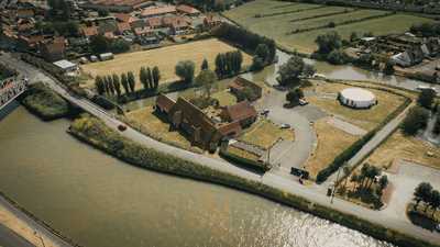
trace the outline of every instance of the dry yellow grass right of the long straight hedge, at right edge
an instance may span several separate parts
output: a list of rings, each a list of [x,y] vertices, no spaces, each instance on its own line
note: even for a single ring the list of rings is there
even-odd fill
[[[431,153],[431,155],[428,155]],[[373,166],[388,168],[395,158],[440,168],[440,147],[396,131],[367,159]]]

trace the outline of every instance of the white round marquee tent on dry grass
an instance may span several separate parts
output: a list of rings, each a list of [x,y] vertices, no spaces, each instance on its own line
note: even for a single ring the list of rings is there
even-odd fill
[[[340,91],[339,100],[344,105],[358,109],[371,108],[377,104],[374,93],[362,88],[346,88]]]

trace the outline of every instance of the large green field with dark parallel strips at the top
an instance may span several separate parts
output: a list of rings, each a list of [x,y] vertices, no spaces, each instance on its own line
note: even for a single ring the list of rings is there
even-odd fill
[[[224,12],[224,15],[253,32],[274,38],[285,49],[306,54],[315,52],[318,35],[330,31],[337,31],[348,38],[352,32],[360,35],[367,32],[375,35],[403,33],[413,24],[432,22],[431,19],[410,14],[385,16],[387,13],[380,10],[255,0]],[[329,22],[334,22],[336,27],[292,34],[295,30],[323,26]]]

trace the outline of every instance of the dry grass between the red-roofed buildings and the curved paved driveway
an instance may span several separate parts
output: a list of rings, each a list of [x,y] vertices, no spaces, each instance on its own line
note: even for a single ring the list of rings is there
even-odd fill
[[[295,139],[295,132],[287,128],[282,130],[268,120],[254,123],[250,130],[240,137],[243,142],[260,146],[264,149],[270,148],[279,138],[293,142]]]

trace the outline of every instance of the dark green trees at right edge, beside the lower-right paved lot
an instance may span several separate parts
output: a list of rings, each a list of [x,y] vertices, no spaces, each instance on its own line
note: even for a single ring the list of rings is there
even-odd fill
[[[435,190],[429,182],[421,182],[414,191],[414,200],[416,201],[415,210],[418,209],[420,202],[425,203],[425,212],[428,207],[432,209],[432,216],[440,209],[440,192]]]

